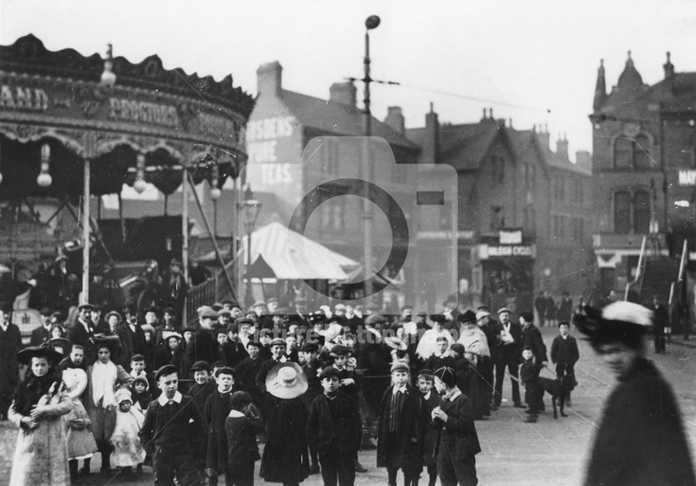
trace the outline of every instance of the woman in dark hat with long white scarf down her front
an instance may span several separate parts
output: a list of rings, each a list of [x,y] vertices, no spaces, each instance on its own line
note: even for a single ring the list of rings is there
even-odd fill
[[[102,474],[111,477],[111,434],[116,426],[116,389],[127,388],[133,381],[122,366],[111,361],[111,355],[120,348],[118,336],[95,336],[97,361],[87,368],[89,379],[86,398],[87,413],[92,421],[92,432],[97,448],[102,453]]]

